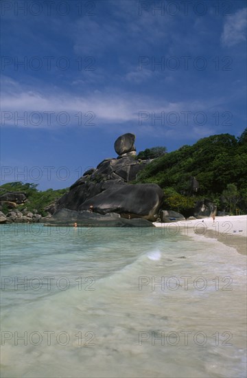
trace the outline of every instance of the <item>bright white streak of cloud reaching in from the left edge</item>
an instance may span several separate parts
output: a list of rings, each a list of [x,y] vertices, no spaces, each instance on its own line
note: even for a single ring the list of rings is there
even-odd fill
[[[8,115],[5,113],[5,124],[10,124],[15,116],[21,117],[24,112],[27,112],[28,115],[34,112],[43,115],[45,112],[54,112],[55,115],[59,112],[67,112],[70,115],[78,112],[83,114],[92,112],[95,114],[95,120],[100,124],[121,124],[137,122],[139,111],[158,113],[183,108],[181,104],[169,104],[148,98],[148,96],[136,96],[130,93],[93,93],[90,96],[75,96],[70,93],[45,94],[40,91],[8,93],[3,97],[1,107],[2,115],[3,112],[10,112],[13,115],[10,122],[7,122]],[[54,116],[52,115],[52,117]],[[75,120],[75,118],[73,119]],[[21,125],[21,121],[19,124]],[[32,124],[26,126],[32,126]],[[44,124],[39,126],[44,126]]]

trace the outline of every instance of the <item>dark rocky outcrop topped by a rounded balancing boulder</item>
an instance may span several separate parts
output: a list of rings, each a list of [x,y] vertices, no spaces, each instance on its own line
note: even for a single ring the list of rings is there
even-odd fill
[[[155,184],[130,185],[150,160],[134,159],[134,134],[121,135],[115,142],[117,158],[108,158],[96,168],[86,170],[68,193],[45,210],[50,215],[58,210],[89,210],[106,214],[117,212],[122,218],[143,218],[154,221],[163,199],[163,191]]]

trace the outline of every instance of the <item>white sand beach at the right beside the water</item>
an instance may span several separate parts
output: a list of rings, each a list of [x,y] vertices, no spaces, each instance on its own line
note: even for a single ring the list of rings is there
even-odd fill
[[[173,227],[180,227],[187,232],[187,236],[213,238],[228,247],[233,247],[237,253],[247,255],[247,215],[216,216],[214,223],[211,218],[204,218],[153,224],[155,227],[168,229],[174,225]]]

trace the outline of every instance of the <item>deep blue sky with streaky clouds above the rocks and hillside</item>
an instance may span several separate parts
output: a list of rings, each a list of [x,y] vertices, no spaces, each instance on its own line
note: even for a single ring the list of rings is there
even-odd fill
[[[1,184],[246,127],[246,1],[1,1]]]

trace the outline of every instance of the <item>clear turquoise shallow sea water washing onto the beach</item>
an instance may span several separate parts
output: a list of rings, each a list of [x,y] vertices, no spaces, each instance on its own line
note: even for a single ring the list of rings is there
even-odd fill
[[[246,377],[246,256],[160,229],[1,225],[1,377]]]

